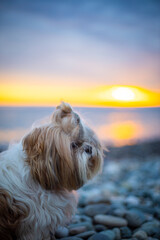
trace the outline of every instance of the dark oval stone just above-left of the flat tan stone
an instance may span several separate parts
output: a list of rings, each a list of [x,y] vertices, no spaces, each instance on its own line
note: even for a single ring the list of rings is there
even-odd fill
[[[84,208],[84,213],[90,217],[93,217],[97,214],[105,214],[109,211],[109,206],[107,204],[92,204]]]

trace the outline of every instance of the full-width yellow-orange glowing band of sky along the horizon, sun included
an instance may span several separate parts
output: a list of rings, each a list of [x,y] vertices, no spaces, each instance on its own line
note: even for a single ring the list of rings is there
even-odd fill
[[[53,106],[66,101],[74,106],[158,107],[160,91],[129,85],[98,86],[80,79],[2,78],[1,106]]]

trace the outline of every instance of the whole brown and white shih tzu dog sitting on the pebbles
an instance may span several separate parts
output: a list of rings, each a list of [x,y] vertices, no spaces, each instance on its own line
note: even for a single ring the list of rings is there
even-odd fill
[[[49,240],[75,213],[74,191],[102,168],[102,147],[67,103],[0,155],[0,239]]]

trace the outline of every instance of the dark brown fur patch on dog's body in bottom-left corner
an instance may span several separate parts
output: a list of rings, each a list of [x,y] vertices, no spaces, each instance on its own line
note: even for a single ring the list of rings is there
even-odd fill
[[[0,239],[15,239],[20,222],[28,216],[28,207],[0,189]]]

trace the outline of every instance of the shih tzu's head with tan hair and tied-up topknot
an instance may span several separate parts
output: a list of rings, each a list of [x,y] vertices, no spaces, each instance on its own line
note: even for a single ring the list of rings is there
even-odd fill
[[[98,138],[67,103],[24,137],[23,148],[33,179],[47,190],[78,189],[102,167]]]

